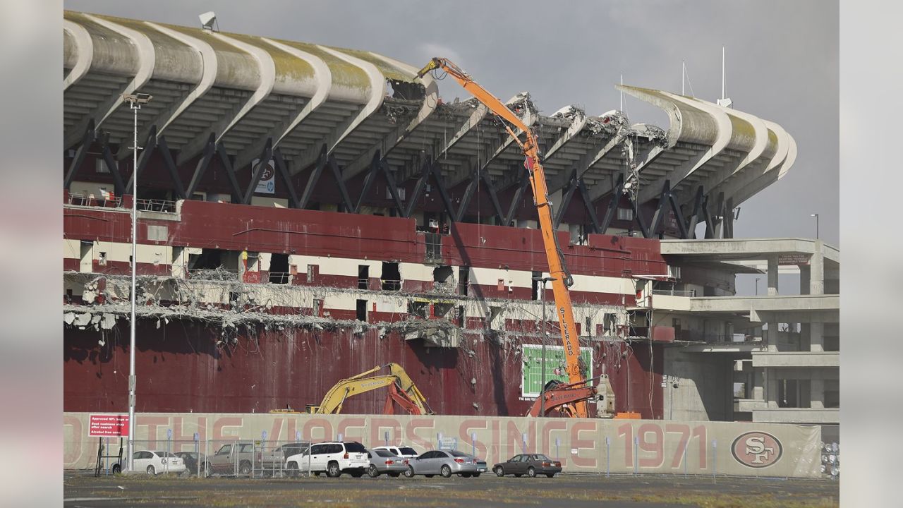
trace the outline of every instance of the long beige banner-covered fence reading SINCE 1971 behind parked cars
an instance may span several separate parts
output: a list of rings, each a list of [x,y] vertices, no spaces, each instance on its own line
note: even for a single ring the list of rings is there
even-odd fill
[[[88,437],[88,413],[64,413],[64,467],[93,467],[98,438]],[[423,452],[437,438],[457,438],[457,447],[489,465],[518,453],[545,453],[565,471],[690,475],[818,477],[821,429],[741,422],[638,419],[530,419],[469,416],[143,413],[135,440],[157,439],[172,451],[194,449],[194,433],[208,439],[268,441],[335,439],[339,434],[368,447],[389,441]],[[471,434],[476,441],[471,443]],[[526,436],[526,442],[524,437]],[[111,440],[112,441],[112,440]],[[557,446],[556,446],[557,442]],[[203,447],[203,444],[201,444]]]

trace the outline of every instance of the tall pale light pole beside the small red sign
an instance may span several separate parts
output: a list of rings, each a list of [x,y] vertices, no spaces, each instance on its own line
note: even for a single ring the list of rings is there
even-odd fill
[[[129,322],[128,341],[128,471],[135,470],[135,458],[133,447],[135,446],[135,270],[138,265],[137,236],[138,236],[138,109],[142,104],[150,102],[153,96],[146,93],[123,94],[122,98],[128,102],[129,108],[135,113],[135,123],[132,138],[132,317]]]

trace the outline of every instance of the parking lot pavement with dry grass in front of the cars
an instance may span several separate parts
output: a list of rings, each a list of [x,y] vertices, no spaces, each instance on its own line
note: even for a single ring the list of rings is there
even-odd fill
[[[824,480],[711,476],[559,475],[555,478],[181,478],[64,475],[67,507],[113,506],[529,506],[826,508],[839,485]]]

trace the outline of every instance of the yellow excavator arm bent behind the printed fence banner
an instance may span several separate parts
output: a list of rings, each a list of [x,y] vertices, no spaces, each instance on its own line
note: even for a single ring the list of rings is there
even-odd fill
[[[388,374],[374,375],[383,369],[388,369]],[[432,415],[433,410],[426,403],[424,394],[420,392],[405,369],[397,363],[377,365],[367,372],[361,372],[356,376],[337,382],[328,392],[319,405],[309,404],[305,412],[318,415],[332,415],[341,412],[342,404],[349,397],[367,393],[387,387],[386,405],[383,414],[395,414],[395,402],[412,415]]]

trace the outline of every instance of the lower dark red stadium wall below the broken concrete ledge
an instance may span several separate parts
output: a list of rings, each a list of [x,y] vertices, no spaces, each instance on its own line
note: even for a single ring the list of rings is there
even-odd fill
[[[242,332],[244,330],[242,329]],[[478,337],[476,341],[474,337]],[[464,348],[426,348],[376,331],[262,332],[230,343],[219,328],[187,321],[139,322],[135,354],[137,410],[143,412],[266,412],[317,404],[340,379],[386,362],[405,367],[438,414],[520,416],[519,341],[496,345],[465,337]],[[102,339],[105,344],[100,345]],[[514,338],[516,339],[516,338]],[[127,407],[128,327],[104,333],[64,330],[65,411],[121,411]],[[662,417],[662,350],[654,344],[593,343],[593,371],[609,374],[619,411]],[[627,354],[622,354],[627,351]],[[651,362],[650,362],[650,356]],[[650,363],[654,365],[650,375]],[[470,380],[476,379],[476,384]],[[651,404],[650,404],[651,393]],[[386,391],[349,399],[345,413],[379,413]],[[476,402],[478,407],[474,407]]]

